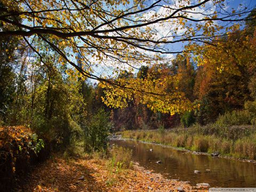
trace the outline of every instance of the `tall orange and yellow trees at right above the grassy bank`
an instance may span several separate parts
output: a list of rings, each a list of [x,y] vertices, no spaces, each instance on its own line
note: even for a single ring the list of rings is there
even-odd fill
[[[201,103],[201,123],[213,121],[226,111],[242,109],[245,101],[253,99],[255,32],[252,33],[253,26],[242,30],[233,27],[227,37],[218,41],[218,46],[198,47],[204,53],[197,57],[200,67],[194,93]]]

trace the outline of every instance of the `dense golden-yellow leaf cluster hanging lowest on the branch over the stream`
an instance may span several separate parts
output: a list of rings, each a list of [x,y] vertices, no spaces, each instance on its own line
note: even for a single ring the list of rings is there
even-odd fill
[[[148,76],[145,79],[118,78],[118,86],[100,84],[105,89],[102,101],[113,108],[124,108],[134,101],[136,104],[147,105],[152,111],[171,115],[192,110],[195,106],[183,92],[178,91],[177,81],[177,78],[170,75],[162,78]]]

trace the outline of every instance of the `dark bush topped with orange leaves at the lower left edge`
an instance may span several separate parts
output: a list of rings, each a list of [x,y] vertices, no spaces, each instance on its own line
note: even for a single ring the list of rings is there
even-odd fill
[[[45,156],[44,141],[25,126],[0,127],[0,190],[10,191],[15,179]]]

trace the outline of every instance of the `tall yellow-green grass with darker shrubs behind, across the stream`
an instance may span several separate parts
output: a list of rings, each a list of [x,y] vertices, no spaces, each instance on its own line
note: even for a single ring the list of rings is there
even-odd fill
[[[256,160],[256,133],[253,125],[220,126],[208,124],[179,127],[172,130],[137,130],[117,132],[123,138],[154,142],[161,145],[218,153],[241,159]]]

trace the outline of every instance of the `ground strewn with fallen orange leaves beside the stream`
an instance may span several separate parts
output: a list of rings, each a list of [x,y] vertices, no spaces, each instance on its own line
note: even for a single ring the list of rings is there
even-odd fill
[[[47,160],[29,176],[18,191],[198,191],[185,182],[166,180],[134,165],[134,169],[111,171],[105,160],[59,156]]]

